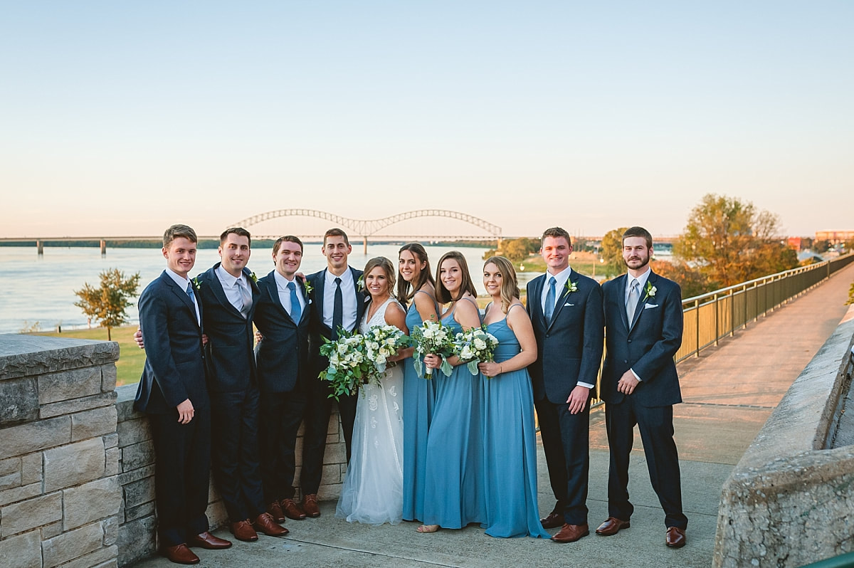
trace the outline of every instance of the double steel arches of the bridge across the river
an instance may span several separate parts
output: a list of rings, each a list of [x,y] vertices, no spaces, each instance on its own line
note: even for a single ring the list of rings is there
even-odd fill
[[[407,211],[405,213],[390,215],[389,217],[383,217],[382,219],[370,220],[350,219],[348,217],[342,217],[341,215],[331,214],[317,209],[277,209],[275,211],[267,211],[266,213],[247,217],[246,219],[237,221],[237,223],[234,223],[233,225],[229,225],[229,227],[248,227],[251,225],[257,225],[262,221],[278,219],[279,217],[314,217],[316,219],[324,219],[351,231],[354,236],[358,235],[360,237],[371,237],[372,235],[376,235],[377,232],[382,231],[384,228],[405,220],[418,219],[419,217],[444,217],[447,219],[465,221],[470,225],[475,225],[476,227],[487,231],[493,237],[501,237],[500,226],[493,225],[487,220],[480,219],[473,215],[459,213],[459,211],[448,211],[447,209],[416,209],[415,211]]]

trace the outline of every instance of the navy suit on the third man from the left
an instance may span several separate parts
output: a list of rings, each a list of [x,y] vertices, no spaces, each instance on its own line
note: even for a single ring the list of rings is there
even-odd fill
[[[307,402],[308,303],[301,278],[294,279],[297,294],[306,299],[299,321],[294,321],[278,295],[275,271],[258,280],[260,295],[255,304],[254,324],[264,339],[256,360],[261,391],[260,439],[261,477],[267,503],[294,497],[296,434]],[[315,378],[316,380],[316,378]],[[306,445],[303,445],[305,461]]]

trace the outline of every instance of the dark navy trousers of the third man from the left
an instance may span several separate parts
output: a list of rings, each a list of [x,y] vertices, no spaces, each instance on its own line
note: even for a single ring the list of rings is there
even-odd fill
[[[261,478],[266,503],[294,497],[296,434],[305,414],[306,401],[306,393],[299,384],[290,392],[261,396]],[[305,443],[302,454],[305,463]]]

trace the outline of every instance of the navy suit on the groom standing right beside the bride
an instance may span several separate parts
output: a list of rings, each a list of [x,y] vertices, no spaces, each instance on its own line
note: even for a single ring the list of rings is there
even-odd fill
[[[359,290],[359,278],[362,271],[348,267],[353,275],[354,289],[356,295],[356,322],[354,329],[359,328],[362,314],[365,313],[365,293]],[[323,473],[323,456],[326,448],[326,435],[329,426],[329,417],[332,411],[330,384],[318,378],[318,375],[327,366],[329,360],[320,354],[320,346],[323,338],[331,339],[332,330],[324,323],[324,288],[326,269],[314,272],[308,277],[312,286],[311,299],[313,302],[311,319],[309,321],[309,367],[311,369],[311,380],[308,384],[308,401],[306,408],[306,430],[303,434],[303,462],[301,472],[301,488],[303,495],[312,495],[318,492],[320,477]],[[347,330],[354,331],[354,330]],[[353,423],[356,419],[356,396],[340,396],[338,400],[338,412],[341,415],[341,428],[344,432],[344,442],[347,446],[347,461],[350,460],[351,443],[353,441]]]

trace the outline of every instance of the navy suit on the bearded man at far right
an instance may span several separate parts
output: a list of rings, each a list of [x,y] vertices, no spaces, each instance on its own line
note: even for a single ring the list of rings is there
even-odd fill
[[[673,357],[682,343],[682,302],[679,285],[650,272],[635,317],[626,314],[623,274],[602,286],[605,295],[606,354],[602,368],[602,399],[611,466],[608,474],[608,514],[628,521],[629,454],[640,430],[652,488],[664,508],[668,527],[685,529],[682,514],[679,456],[673,441],[673,405],[681,402]],[[654,290],[654,295],[650,295]],[[623,373],[632,369],[640,383],[631,395],[617,391]]]

